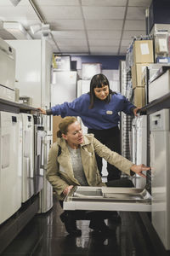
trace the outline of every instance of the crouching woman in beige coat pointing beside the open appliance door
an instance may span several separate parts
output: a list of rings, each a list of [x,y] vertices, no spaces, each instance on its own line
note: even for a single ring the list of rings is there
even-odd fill
[[[133,163],[122,155],[107,148],[94,137],[93,134],[82,134],[80,123],[75,117],[65,117],[59,123],[58,140],[52,145],[48,154],[47,178],[52,184],[62,206],[65,196],[74,186],[113,186],[132,187],[129,179],[120,179],[103,183],[97,167],[95,153],[103,157],[120,171],[138,173],[145,177],[143,171],[150,170],[144,165]],[[60,151],[60,152],[59,152]],[[77,229],[77,219],[89,219],[89,227],[95,231],[110,233],[105,224],[105,218],[110,218],[111,212],[65,211],[60,218],[65,223],[65,230],[72,236],[81,236]]]

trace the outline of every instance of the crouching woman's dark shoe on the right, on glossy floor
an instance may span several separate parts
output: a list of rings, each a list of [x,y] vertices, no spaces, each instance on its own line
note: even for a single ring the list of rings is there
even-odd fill
[[[105,236],[113,236],[115,233],[115,230],[111,230],[106,224],[105,221],[99,221],[95,222],[92,220],[89,224],[89,228],[94,230],[94,233],[101,232]]]

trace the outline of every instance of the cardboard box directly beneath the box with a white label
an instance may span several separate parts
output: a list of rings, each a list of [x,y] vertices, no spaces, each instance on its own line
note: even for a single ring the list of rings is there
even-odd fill
[[[144,72],[144,67],[148,67],[150,63],[143,63],[143,64],[134,64],[131,71],[132,71],[132,82],[133,88],[142,87],[142,73]]]

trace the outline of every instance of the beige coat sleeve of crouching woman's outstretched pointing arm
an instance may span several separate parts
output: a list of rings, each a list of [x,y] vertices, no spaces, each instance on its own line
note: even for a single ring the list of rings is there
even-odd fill
[[[100,157],[103,157],[111,165],[116,166],[120,171],[125,172],[127,175],[131,175],[130,168],[133,166],[133,162],[124,158],[121,154],[111,151],[104,144],[100,143],[95,137],[93,138],[94,151]]]

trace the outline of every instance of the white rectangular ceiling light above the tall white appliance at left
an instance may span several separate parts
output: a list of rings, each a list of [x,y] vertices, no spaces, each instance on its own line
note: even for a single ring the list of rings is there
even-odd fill
[[[7,30],[16,39],[32,39],[31,35],[19,22],[3,22],[3,28]]]

